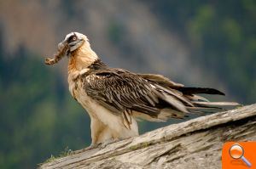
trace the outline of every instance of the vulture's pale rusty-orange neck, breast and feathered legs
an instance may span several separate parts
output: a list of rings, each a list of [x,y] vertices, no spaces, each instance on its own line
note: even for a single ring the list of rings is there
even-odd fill
[[[88,53],[86,48],[79,48],[75,54],[76,56],[71,56],[68,64],[69,91],[73,95],[73,98],[76,99],[90,115],[92,144],[137,136],[137,121],[135,121],[133,117],[131,117],[131,128],[125,127],[121,115],[113,114],[111,110],[108,110],[108,108],[98,103],[96,95],[92,97],[90,95],[91,93],[89,92],[90,89],[88,89],[88,86],[91,83],[92,85],[100,85],[101,76],[96,76],[96,72],[105,66],[99,65],[98,67],[92,67],[92,63],[94,63],[97,58],[94,58],[95,53],[93,51]],[[81,62],[81,59],[84,58],[84,54],[90,55],[90,57],[94,59],[86,59]],[[98,81],[99,83],[97,83]],[[93,91],[91,92],[93,93]]]

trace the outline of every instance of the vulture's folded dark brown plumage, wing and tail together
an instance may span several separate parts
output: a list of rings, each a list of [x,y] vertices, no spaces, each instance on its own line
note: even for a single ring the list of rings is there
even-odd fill
[[[216,102],[195,93],[224,94],[213,88],[184,87],[165,76],[134,74],[127,70],[92,70],[81,76],[84,91],[115,115],[122,116],[125,127],[131,124],[132,112],[151,119],[181,118],[185,113],[219,110],[218,106],[236,103]],[[169,115],[170,114],[170,115]],[[148,118],[148,119],[150,119]]]

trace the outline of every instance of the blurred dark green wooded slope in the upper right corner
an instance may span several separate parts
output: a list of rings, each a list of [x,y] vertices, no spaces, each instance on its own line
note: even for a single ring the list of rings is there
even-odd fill
[[[189,43],[193,59],[228,84],[238,101],[255,101],[255,1],[163,0],[148,4],[164,25]]]

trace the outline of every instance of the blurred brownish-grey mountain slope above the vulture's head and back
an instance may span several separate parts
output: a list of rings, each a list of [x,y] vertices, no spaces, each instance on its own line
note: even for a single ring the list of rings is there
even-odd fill
[[[188,83],[204,76],[179,35],[137,1],[4,1],[0,9],[10,52],[22,43],[39,55],[50,55],[68,32],[80,31],[113,67],[161,73]],[[66,70],[66,65],[61,67]]]

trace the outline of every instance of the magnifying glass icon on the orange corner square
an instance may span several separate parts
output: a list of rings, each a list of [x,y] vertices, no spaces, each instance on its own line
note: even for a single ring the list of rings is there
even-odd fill
[[[248,167],[251,167],[252,164],[243,156],[244,154],[244,149],[241,147],[240,144],[233,144],[231,147],[230,147],[230,156],[233,158],[233,159],[241,159],[242,161],[244,161],[244,163],[246,163],[246,165]]]

